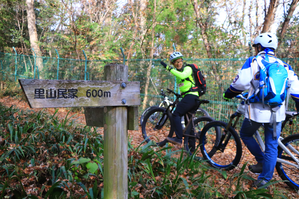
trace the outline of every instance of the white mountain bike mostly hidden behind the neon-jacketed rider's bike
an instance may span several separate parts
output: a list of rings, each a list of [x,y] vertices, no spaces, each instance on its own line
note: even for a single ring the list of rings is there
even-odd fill
[[[170,93],[169,91],[167,91],[168,93]],[[164,100],[158,105],[155,105],[155,106],[151,106],[151,107],[148,107],[147,109],[144,110],[144,112],[141,114],[140,116],[140,125],[142,125],[142,122],[143,122],[143,119],[144,119],[144,116],[149,112],[149,110],[151,110],[152,108],[156,108],[156,107],[168,107],[170,104],[173,104],[172,101],[169,100],[169,98],[167,97],[167,95],[163,92],[163,89],[161,89],[161,93],[160,93],[163,97],[164,97]],[[172,108],[172,107],[171,107]],[[172,110],[173,111],[173,110]],[[202,117],[202,116],[208,116],[210,117],[208,111],[206,111],[205,109],[203,108],[198,108],[197,111],[196,111],[196,114],[195,114],[195,117],[198,118],[198,117]],[[182,123],[184,124],[184,119],[182,119]]]

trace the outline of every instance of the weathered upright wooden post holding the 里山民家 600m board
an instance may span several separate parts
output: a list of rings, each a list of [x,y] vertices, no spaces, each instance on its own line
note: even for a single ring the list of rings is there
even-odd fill
[[[105,81],[128,81],[128,66],[108,64]],[[126,100],[123,99],[123,104]],[[104,107],[104,199],[128,198],[127,106]]]

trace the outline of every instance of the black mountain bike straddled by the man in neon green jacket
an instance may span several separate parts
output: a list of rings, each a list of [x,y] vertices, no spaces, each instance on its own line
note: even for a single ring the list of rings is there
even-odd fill
[[[166,137],[172,137],[174,133],[173,128],[173,119],[172,119],[172,110],[176,107],[176,104],[179,102],[179,98],[182,95],[173,92],[170,89],[167,89],[169,93],[173,93],[176,96],[176,100],[167,106],[163,107],[153,107],[149,112],[144,116],[143,123],[141,125],[142,135],[144,139],[149,142],[150,140],[154,141],[158,146],[164,146],[168,141]],[[199,100],[200,104],[209,103],[208,100]],[[199,105],[200,105],[199,104]],[[213,121],[213,118],[208,116],[203,116],[195,118],[195,113],[193,113],[192,118],[187,117],[188,124],[183,130],[183,135],[185,139],[187,138],[197,138],[197,143],[199,143],[198,138],[201,132],[202,127],[207,122]],[[193,126],[191,128],[191,121]],[[190,127],[189,127],[190,126]],[[188,128],[189,127],[189,128]],[[188,134],[190,130],[195,130],[195,135]],[[185,140],[184,139],[184,140]],[[186,142],[187,142],[186,140]],[[189,147],[189,146],[188,146]],[[188,149],[189,151],[189,149]]]

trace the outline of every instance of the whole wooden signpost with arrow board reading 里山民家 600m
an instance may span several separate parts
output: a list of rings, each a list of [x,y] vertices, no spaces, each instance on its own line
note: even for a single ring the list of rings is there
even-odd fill
[[[104,127],[104,198],[128,198],[128,130],[138,130],[140,82],[108,64],[106,81],[19,79],[30,108],[84,107],[86,124]]]

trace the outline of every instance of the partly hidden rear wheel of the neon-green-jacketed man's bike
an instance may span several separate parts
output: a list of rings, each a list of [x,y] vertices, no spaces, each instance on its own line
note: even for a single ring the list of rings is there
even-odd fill
[[[185,150],[188,152],[189,155],[193,155],[193,153],[196,153],[196,159],[199,159],[199,157],[202,157],[202,154],[199,153],[200,149],[199,149],[199,136],[202,132],[202,128],[208,124],[208,122],[214,121],[213,118],[211,117],[207,117],[207,116],[203,116],[203,117],[199,117],[196,118],[193,123],[194,123],[194,127],[195,129],[193,129],[193,125],[190,124],[188,126],[188,129],[186,130],[186,134],[184,136],[184,148]],[[194,133],[195,135],[193,135]],[[192,137],[192,136],[195,136]],[[215,136],[215,139],[220,139],[221,137],[221,133],[218,130]],[[196,150],[197,149],[197,150]]]

